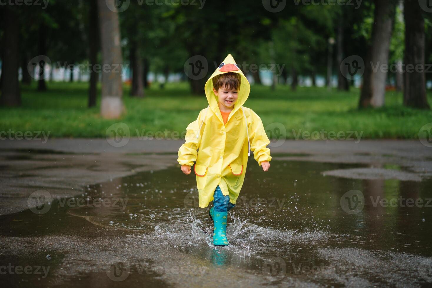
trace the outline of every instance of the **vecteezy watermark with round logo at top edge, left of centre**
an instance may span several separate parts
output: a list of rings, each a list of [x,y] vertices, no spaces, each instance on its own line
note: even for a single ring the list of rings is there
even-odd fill
[[[130,0],[105,0],[105,3],[112,12],[121,13],[126,11],[130,6]],[[139,6],[198,6],[203,9],[206,0],[137,0]]]

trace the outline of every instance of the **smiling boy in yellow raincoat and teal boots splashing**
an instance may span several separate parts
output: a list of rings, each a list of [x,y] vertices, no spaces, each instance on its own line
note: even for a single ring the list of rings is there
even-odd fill
[[[243,107],[251,86],[231,54],[207,80],[209,106],[186,128],[186,142],[178,150],[181,171],[189,175],[194,164],[201,208],[213,200],[213,244],[229,245],[226,217],[235,206],[245,179],[250,151],[264,171],[270,168],[270,144],[260,117]],[[197,152],[197,149],[199,151]]]

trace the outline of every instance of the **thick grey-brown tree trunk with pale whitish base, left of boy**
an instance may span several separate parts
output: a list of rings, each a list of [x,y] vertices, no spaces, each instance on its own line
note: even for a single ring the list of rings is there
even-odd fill
[[[111,7],[108,8],[108,5]],[[116,9],[114,1],[98,0],[102,67],[104,65],[111,67],[109,71],[102,69],[101,116],[106,119],[119,118],[124,110],[121,71],[118,69],[118,66],[123,64],[121,37],[118,13],[113,12]]]

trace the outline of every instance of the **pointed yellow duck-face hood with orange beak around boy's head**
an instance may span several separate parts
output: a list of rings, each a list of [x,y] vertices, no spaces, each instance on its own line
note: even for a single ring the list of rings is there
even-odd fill
[[[237,63],[235,63],[234,58],[231,56],[231,54],[228,54],[226,58],[222,61],[222,63],[219,65],[219,67],[213,72],[213,74],[210,76],[210,78],[207,80],[206,85],[204,87],[206,92],[207,101],[209,102],[210,109],[218,115],[219,113],[219,106],[218,106],[218,97],[213,92],[213,77],[216,75],[220,75],[223,73],[228,72],[234,72],[237,74],[240,74],[241,76],[241,84],[240,89],[238,90],[238,99],[237,102],[234,104],[234,109],[232,110],[231,115],[234,115],[234,113],[240,109],[241,106],[246,102],[249,96],[249,91],[251,91],[251,85],[249,84],[248,79],[245,77],[243,72],[241,72],[240,68],[238,68]],[[222,117],[221,121],[222,121]]]

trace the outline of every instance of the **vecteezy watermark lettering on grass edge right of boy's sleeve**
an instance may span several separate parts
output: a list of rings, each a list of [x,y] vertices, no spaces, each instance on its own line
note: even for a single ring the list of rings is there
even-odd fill
[[[299,129],[298,132],[295,129],[292,129],[292,134],[294,135],[295,140],[299,140],[302,138],[303,140],[356,140],[356,144],[358,144],[362,138],[363,131],[325,131],[321,129],[321,131],[302,131],[302,128]],[[354,137],[353,137],[354,136]]]

